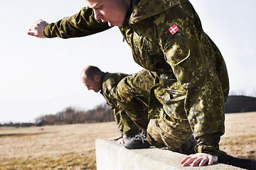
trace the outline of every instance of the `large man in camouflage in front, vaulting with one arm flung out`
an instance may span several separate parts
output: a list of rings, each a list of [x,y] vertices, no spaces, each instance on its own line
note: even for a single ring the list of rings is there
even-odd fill
[[[28,35],[73,38],[119,26],[132,48],[134,61],[154,75],[148,114],[129,113],[137,125],[147,130],[149,142],[191,154],[188,148],[193,146],[194,137],[196,154],[183,159],[183,166],[213,164],[217,159],[235,165],[237,159],[227,157],[218,145],[225,130],[227,69],[218,47],[203,32],[191,3],[188,0],[87,2],[90,8],[82,8],[75,16],[57,23],[36,21]],[[129,91],[131,83],[132,79],[117,86],[119,103],[126,109],[136,105],[131,102],[140,101],[134,97],[134,91],[142,93],[139,87]],[[149,118],[147,126],[142,119],[137,120],[139,115]],[[243,163],[239,166],[245,167]]]

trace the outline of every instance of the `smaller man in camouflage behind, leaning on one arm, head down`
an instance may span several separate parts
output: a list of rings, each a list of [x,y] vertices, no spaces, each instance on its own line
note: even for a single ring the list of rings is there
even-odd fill
[[[137,73],[139,74],[139,73]],[[117,103],[117,84],[128,74],[101,72],[101,70],[94,66],[85,67],[81,73],[81,81],[88,90],[99,92],[104,96],[107,104],[114,110],[114,119],[117,123],[118,130],[121,132],[119,137],[110,138],[109,140],[118,140],[123,144],[129,137],[134,137],[139,134],[139,128],[129,118],[122,108]]]

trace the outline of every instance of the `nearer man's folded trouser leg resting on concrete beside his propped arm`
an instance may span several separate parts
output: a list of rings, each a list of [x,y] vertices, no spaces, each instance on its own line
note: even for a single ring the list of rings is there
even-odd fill
[[[188,121],[177,121],[179,122],[166,118],[151,119],[147,128],[149,143],[182,154],[195,153],[196,140],[193,138]]]

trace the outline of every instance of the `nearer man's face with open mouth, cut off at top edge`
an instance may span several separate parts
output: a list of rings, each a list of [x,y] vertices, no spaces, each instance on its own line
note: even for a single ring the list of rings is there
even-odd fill
[[[95,19],[107,22],[109,26],[122,26],[131,0],[86,0],[93,9]]]

